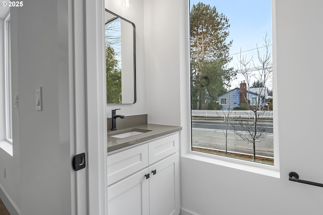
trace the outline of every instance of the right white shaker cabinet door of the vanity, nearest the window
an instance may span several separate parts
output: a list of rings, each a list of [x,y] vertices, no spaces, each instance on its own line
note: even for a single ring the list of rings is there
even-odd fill
[[[150,214],[178,215],[180,213],[178,153],[151,165],[149,172]]]

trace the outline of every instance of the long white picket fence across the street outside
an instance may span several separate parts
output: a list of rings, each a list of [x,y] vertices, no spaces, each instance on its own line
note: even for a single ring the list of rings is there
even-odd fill
[[[273,119],[272,110],[257,111],[259,119]],[[229,117],[230,118],[253,118],[254,112],[251,110],[192,110],[192,116],[201,117]]]

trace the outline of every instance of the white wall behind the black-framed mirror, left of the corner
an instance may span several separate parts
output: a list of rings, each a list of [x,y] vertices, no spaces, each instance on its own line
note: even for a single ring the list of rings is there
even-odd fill
[[[136,84],[137,101],[135,104],[113,104],[106,105],[106,116],[111,117],[111,110],[118,109],[118,114],[125,116],[139,115],[147,113],[147,104],[145,96],[145,56],[144,56],[144,37],[143,37],[143,0],[134,1],[131,9],[125,9],[121,6],[121,1],[105,0],[105,8],[118,14],[119,16],[133,22],[136,26]]]

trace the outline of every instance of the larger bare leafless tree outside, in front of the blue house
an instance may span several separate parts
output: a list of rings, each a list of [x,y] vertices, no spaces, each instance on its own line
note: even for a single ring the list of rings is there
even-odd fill
[[[267,39],[267,34],[263,38],[264,46],[266,48],[265,54],[260,55],[259,48],[257,46],[258,65],[252,60],[247,60],[246,56],[242,56],[240,53],[240,73],[245,78],[246,93],[240,97],[240,106],[245,104],[247,109],[253,113],[253,121],[237,120],[236,123],[232,123],[234,132],[240,137],[240,139],[251,143],[253,146],[253,161],[256,159],[255,145],[256,142],[263,140],[267,134],[266,128],[258,126],[260,116],[263,114],[263,110],[266,107],[266,96],[268,88],[266,83],[272,78],[272,55],[269,51],[270,40]],[[250,68],[251,61],[253,68]],[[251,78],[261,83],[258,88],[250,88]],[[240,93],[243,93],[240,89]],[[243,100],[243,101],[241,101]]]

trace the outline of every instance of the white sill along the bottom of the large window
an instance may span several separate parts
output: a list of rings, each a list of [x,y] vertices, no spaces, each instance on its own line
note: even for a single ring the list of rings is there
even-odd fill
[[[190,151],[186,154],[182,154],[182,157],[219,166],[229,167],[233,169],[243,170],[247,172],[257,173],[261,175],[266,175],[270,177],[280,178],[280,172],[278,168],[266,164],[254,163],[250,161],[243,161],[222,156],[208,155],[193,151]]]

